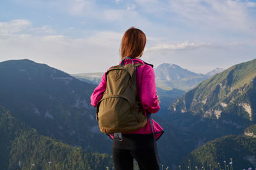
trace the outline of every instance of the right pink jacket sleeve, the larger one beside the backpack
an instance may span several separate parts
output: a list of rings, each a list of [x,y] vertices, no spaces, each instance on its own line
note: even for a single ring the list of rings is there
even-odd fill
[[[159,111],[160,106],[157,101],[158,97],[156,94],[156,82],[154,69],[147,66],[143,69],[141,76],[141,104],[142,107],[150,113],[156,113]]]

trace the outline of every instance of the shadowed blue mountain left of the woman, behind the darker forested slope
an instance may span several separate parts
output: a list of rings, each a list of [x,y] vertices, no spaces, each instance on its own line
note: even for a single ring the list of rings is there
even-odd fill
[[[21,122],[87,152],[111,152],[90,105],[95,85],[27,59],[0,62],[0,80],[0,106]]]

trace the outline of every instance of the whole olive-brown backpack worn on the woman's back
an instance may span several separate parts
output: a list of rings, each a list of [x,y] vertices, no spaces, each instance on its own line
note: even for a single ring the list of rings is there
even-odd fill
[[[105,134],[134,132],[147,124],[136,86],[136,67],[143,64],[131,59],[132,63],[124,66],[124,60],[106,72],[106,90],[97,104],[96,119]]]

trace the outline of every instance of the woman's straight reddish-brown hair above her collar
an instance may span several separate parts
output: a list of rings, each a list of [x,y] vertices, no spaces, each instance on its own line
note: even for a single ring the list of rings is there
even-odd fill
[[[146,45],[146,36],[144,32],[135,27],[131,27],[125,31],[121,43],[121,57],[122,60],[125,57],[131,57],[132,59],[142,55],[142,52]],[[140,56],[141,57],[141,56]]]

